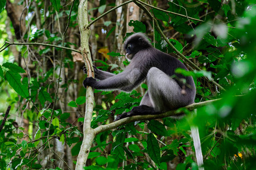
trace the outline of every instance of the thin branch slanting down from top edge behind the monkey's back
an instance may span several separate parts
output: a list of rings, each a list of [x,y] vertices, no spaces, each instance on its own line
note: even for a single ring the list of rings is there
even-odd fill
[[[175,48],[174,45],[172,45],[172,43],[167,39],[167,37],[164,35],[162,29],[160,28],[159,24],[158,24],[158,21],[154,18],[154,16],[152,16],[152,14],[150,13],[150,11],[147,10],[146,7],[144,7],[141,3],[137,2],[137,1],[134,1],[134,3],[136,3],[136,5],[138,5],[140,8],[142,8],[142,10],[144,12],[146,12],[146,14],[150,17],[151,20],[153,20],[153,22],[155,23],[156,25],[156,29],[158,29],[158,32],[160,33],[160,35],[163,37],[163,39],[167,42],[168,45],[171,46],[172,49],[175,50],[175,52],[177,53],[177,57],[179,57],[180,59],[182,59],[183,61],[189,63],[191,66],[195,67],[196,70],[199,70],[201,71],[201,69],[195,65],[195,63],[193,63],[192,61],[190,61],[187,57],[185,57],[182,53],[180,53],[179,50],[177,50]],[[207,78],[207,77],[205,77]],[[212,82],[213,84],[215,84],[218,88],[220,88],[221,90],[224,90],[225,91],[225,88],[223,88],[220,84],[218,84],[217,82],[215,82],[213,79],[209,79],[207,78],[210,82]]]

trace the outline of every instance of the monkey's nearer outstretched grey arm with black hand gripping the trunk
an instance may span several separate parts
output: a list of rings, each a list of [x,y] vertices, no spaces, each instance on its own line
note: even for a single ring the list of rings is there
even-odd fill
[[[91,86],[100,90],[122,90],[130,92],[145,78],[146,77],[142,74],[142,71],[133,68],[100,81],[89,77],[86,78],[82,84],[84,87]]]

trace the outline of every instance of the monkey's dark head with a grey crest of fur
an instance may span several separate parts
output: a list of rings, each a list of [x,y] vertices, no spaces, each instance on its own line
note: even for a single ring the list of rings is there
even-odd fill
[[[126,52],[125,57],[131,61],[135,54],[140,50],[151,47],[151,42],[144,33],[138,32],[129,36],[123,43],[123,49]]]

